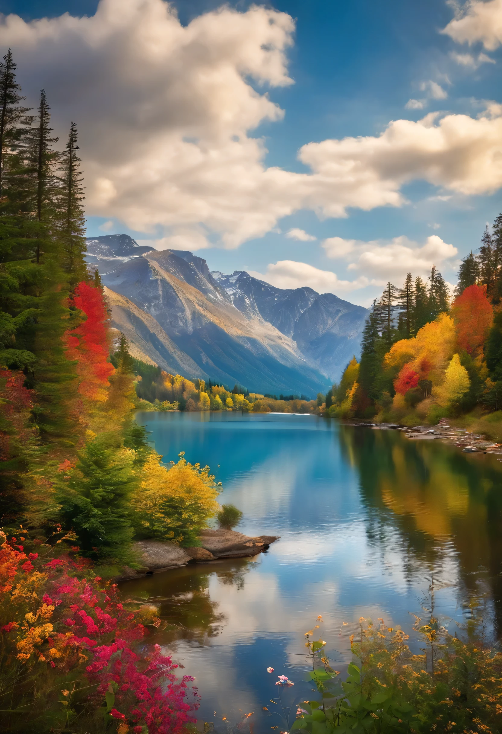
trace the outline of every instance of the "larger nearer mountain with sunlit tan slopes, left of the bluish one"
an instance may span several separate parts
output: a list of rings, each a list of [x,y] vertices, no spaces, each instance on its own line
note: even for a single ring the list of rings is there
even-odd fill
[[[107,288],[113,326],[134,354],[186,377],[239,382],[259,392],[313,396],[326,390],[326,377],[297,344],[259,313],[235,308],[202,258],[177,250],[138,252],[134,240],[125,247],[126,236],[120,237],[120,250],[117,239],[90,241],[88,260]],[[115,255],[112,247],[125,254]]]

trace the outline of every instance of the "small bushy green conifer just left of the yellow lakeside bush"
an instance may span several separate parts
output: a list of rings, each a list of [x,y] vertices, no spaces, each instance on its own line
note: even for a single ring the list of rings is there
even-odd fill
[[[128,458],[98,437],[79,454],[68,484],[60,482],[57,499],[65,526],[76,532],[85,556],[98,562],[131,562],[128,500],[135,481]]]

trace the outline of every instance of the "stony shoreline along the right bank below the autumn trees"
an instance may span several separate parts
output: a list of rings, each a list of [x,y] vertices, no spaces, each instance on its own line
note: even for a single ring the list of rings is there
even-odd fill
[[[502,443],[487,440],[477,433],[470,433],[465,428],[450,426],[446,418],[441,418],[437,426],[400,426],[395,423],[351,423],[352,426],[365,426],[380,430],[395,430],[403,433],[410,440],[440,440],[462,448],[462,453],[502,454]]]

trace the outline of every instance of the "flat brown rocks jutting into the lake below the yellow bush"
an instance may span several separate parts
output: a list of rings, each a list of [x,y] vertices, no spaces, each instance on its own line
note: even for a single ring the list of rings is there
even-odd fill
[[[139,569],[124,568],[123,575],[116,581],[151,575],[179,568],[189,563],[211,563],[220,559],[256,556],[269,548],[280,536],[259,535],[251,537],[234,530],[203,530],[200,546],[180,548],[169,540],[139,540],[134,543]]]

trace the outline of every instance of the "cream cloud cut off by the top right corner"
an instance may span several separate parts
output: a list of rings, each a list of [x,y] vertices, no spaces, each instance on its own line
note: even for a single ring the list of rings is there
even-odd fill
[[[502,0],[469,0],[443,29],[456,43],[481,42],[488,51],[502,43]]]

